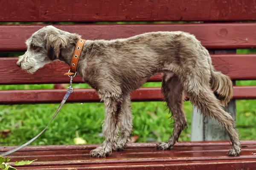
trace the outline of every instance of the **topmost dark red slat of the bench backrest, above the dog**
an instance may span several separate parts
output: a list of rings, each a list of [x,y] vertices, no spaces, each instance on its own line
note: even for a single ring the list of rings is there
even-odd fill
[[[0,22],[255,20],[254,0],[1,0]]]

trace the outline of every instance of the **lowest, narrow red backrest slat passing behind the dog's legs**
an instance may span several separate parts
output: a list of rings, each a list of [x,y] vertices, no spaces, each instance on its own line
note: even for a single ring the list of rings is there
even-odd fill
[[[59,103],[66,92],[66,89],[1,90],[0,104]],[[145,88],[137,90],[132,95],[132,99],[133,101],[159,101],[162,95],[158,88]],[[67,102],[99,102],[99,96],[94,89],[74,89]]]

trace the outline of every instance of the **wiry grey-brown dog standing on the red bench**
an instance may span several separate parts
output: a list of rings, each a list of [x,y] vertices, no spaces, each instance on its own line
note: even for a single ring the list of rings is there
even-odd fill
[[[27,51],[19,57],[17,66],[32,74],[56,60],[70,65],[79,38],[78,34],[46,26],[26,40]],[[159,72],[163,73],[162,92],[172,112],[174,130],[168,142],[157,144],[158,149],[171,148],[187,127],[183,111],[186,93],[201,113],[228,132],[232,141],[228,155],[238,156],[241,151],[233,118],[221,108],[233,97],[232,81],[215,72],[207,49],[194,35],[149,32],[125,39],[86,40],[77,72],[105,104],[105,141],[90,156],[105,157],[112,150],[124,149],[132,131],[130,93]]]

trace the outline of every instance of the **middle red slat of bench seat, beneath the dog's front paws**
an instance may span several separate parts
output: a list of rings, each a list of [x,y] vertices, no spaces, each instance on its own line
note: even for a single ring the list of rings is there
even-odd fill
[[[92,159],[92,158],[91,160],[88,160],[90,150],[83,150],[78,154],[76,154],[76,151],[73,152],[73,150],[70,150],[70,153],[65,152],[65,154],[61,152],[56,152],[56,151],[55,152],[41,151],[41,154],[46,154],[46,155],[41,155],[40,153],[37,153],[37,152],[31,152],[31,153],[23,152],[23,154],[20,154],[19,156],[12,156],[10,158],[14,158],[17,161],[21,161],[23,159],[33,160],[35,159],[35,156],[36,157],[40,156],[41,161],[51,161],[52,164],[49,163],[49,165],[52,165],[52,166],[59,164],[58,163],[59,161],[64,161],[65,159],[67,159],[67,157],[70,157],[67,160],[71,161],[72,162],[71,164],[74,164],[76,160],[79,160],[79,161],[84,160],[81,162],[83,164],[92,164],[92,163],[118,164],[118,163],[124,163],[124,162],[125,163],[137,163],[137,162],[145,163],[148,161],[163,162],[163,161],[170,161],[168,160],[170,158],[172,159],[171,161],[179,161],[179,159],[183,159],[183,161],[201,161],[201,160],[211,160],[211,159],[229,160],[230,157],[224,157],[226,156],[229,149],[230,149],[230,146],[226,146],[224,148],[215,149],[215,150],[213,148],[211,148],[211,150],[208,150],[207,147],[200,148],[199,150],[196,150],[195,148],[190,147],[190,148],[187,148],[187,150],[185,150],[185,148],[183,149],[181,147],[178,149],[172,149],[171,152],[169,150],[161,151],[156,149],[148,150],[148,152],[143,152],[144,149],[140,149],[140,150],[137,149],[137,152],[136,150],[134,151],[131,150],[131,153],[130,153],[130,149],[127,149],[128,151],[126,152],[112,152],[112,155],[110,157],[111,159],[105,159],[100,162],[97,162],[97,159]],[[237,159],[250,159],[250,158],[256,159],[256,155],[254,156],[252,154],[255,152],[256,152],[255,147],[244,150],[241,156]],[[123,153],[123,154],[120,154],[120,153]],[[126,160],[122,161],[122,159],[125,159],[125,158]],[[55,161],[58,161],[58,162],[55,162]],[[67,163],[63,162],[63,164],[67,164]],[[79,163],[75,163],[75,164],[79,164]]]

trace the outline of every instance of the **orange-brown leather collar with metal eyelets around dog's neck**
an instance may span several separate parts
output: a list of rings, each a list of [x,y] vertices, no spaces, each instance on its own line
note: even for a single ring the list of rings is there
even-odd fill
[[[84,42],[85,40],[81,38],[77,41],[76,48],[72,57],[72,61],[70,63],[70,70],[64,75],[69,75],[69,76],[73,75],[73,77],[76,76],[76,67],[77,67],[77,63],[78,63],[82,48],[84,46]]]

